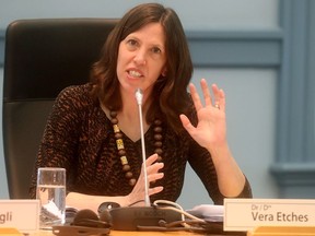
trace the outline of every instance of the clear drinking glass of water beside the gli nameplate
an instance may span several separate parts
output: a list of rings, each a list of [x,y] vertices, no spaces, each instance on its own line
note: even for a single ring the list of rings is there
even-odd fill
[[[51,229],[66,222],[66,169],[40,167],[37,172],[36,199],[40,203],[39,227]]]

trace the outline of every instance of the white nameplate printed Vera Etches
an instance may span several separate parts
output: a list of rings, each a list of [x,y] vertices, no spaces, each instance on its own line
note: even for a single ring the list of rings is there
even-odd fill
[[[257,226],[314,226],[315,200],[224,199],[224,231]]]

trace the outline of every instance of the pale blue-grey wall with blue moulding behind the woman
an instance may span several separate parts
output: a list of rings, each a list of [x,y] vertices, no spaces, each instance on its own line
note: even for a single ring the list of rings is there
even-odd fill
[[[5,28],[18,19],[120,17],[140,0],[0,0],[0,91]],[[164,0],[185,28],[199,86],[226,93],[228,139],[255,198],[315,197],[315,1]],[[2,119],[2,117],[0,117]],[[2,121],[2,120],[1,120]],[[2,129],[0,128],[2,132]],[[0,199],[8,199],[0,135]],[[187,166],[178,203],[211,203]]]

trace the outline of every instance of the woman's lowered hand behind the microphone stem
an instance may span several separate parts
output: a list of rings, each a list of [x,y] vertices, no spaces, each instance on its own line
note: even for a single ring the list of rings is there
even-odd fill
[[[158,163],[158,154],[151,155],[145,161],[147,166],[147,176],[148,176],[148,184],[150,186],[150,182],[153,182],[158,179],[161,179],[164,177],[164,173],[159,172],[163,168],[163,163]],[[154,188],[149,187],[149,196],[155,194],[158,192],[161,192],[163,190],[163,186],[158,186]],[[139,179],[137,180],[137,184],[135,185],[132,191],[126,196],[126,205],[132,205],[137,203],[137,205],[144,205],[144,197],[145,197],[145,188],[144,188],[144,172],[143,172],[143,165],[141,168],[141,175],[139,176]],[[139,203],[138,203],[139,202]]]

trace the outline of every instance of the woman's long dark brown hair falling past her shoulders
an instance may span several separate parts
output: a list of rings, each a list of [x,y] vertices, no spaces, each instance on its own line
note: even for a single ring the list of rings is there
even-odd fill
[[[147,122],[154,118],[167,120],[168,125],[180,132],[183,129],[179,114],[187,114],[187,85],[192,75],[192,63],[186,35],[176,12],[160,3],[143,3],[129,10],[107,37],[101,58],[93,64],[91,82],[94,97],[108,109],[120,110],[122,101],[119,91],[116,67],[118,48],[129,34],[149,23],[160,23],[165,33],[166,75],[156,80],[152,103],[147,113]]]

